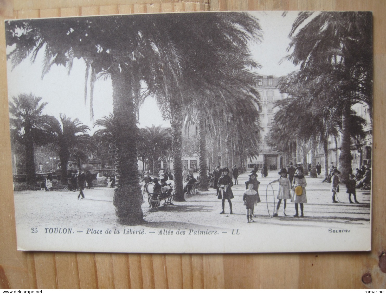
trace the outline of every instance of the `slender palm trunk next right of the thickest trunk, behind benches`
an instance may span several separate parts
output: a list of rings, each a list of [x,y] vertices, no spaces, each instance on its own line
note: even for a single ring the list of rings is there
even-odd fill
[[[176,105],[170,107],[170,125],[172,136],[173,150],[173,173],[174,173],[174,200],[177,202],[185,201],[183,178],[182,178],[182,128],[183,114],[181,106],[176,102]]]

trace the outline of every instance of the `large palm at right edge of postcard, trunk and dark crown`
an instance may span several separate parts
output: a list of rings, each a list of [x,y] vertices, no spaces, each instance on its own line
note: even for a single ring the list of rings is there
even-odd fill
[[[313,14],[302,12],[296,18],[289,34],[292,41],[288,50],[293,52],[287,59],[300,64],[299,81],[328,81],[326,86],[333,94],[329,98],[338,100],[342,107],[339,162],[341,180],[345,182],[351,170],[351,106],[362,102],[372,107],[372,14]]]

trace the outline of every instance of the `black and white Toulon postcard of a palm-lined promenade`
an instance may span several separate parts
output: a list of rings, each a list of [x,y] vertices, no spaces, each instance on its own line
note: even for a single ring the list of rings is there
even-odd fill
[[[371,12],[5,21],[18,250],[371,250]]]

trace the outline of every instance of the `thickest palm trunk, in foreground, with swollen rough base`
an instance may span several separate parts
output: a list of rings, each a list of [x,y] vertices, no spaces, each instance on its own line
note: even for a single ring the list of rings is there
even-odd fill
[[[135,117],[132,79],[124,72],[111,75],[113,113],[119,138],[115,139],[115,179],[113,204],[118,223],[138,225],[143,222],[142,195],[138,188],[137,120]]]

